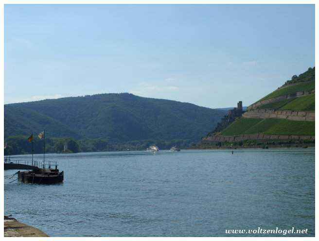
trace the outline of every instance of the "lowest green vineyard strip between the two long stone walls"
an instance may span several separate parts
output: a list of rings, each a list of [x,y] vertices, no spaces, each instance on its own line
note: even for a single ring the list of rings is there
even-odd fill
[[[315,121],[241,118],[226,128],[222,136],[264,133],[269,135],[315,135]]]

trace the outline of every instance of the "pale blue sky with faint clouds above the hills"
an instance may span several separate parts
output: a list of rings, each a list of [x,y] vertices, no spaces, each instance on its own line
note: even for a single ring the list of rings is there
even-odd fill
[[[314,5],[5,5],[4,103],[251,104],[315,65]]]

